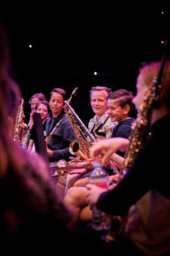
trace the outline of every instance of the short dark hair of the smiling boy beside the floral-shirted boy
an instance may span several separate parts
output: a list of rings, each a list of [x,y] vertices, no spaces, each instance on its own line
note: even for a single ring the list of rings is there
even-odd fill
[[[124,89],[119,89],[115,92],[111,92],[109,96],[107,97],[107,100],[119,100],[119,105],[121,108],[125,108],[127,105],[129,105],[130,109],[129,112],[132,110],[132,100],[134,98],[133,92],[128,92]]]

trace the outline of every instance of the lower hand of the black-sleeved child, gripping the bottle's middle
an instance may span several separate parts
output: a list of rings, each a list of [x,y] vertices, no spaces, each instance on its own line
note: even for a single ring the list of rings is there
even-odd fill
[[[97,201],[99,199],[99,196],[107,191],[105,188],[100,188],[93,184],[87,184],[86,188],[88,189],[88,192],[86,194],[87,197],[87,203],[90,205],[90,209],[92,210],[92,206],[97,204]]]

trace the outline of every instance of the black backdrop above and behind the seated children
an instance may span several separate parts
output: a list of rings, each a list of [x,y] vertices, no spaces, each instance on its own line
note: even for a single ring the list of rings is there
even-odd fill
[[[49,100],[52,89],[63,88],[69,99],[78,87],[70,105],[86,126],[94,116],[89,103],[92,86],[136,94],[139,63],[161,60],[163,55],[169,10],[161,4],[150,10],[144,3],[133,8],[120,5],[49,4],[36,10],[33,5],[10,6],[8,14],[1,9],[11,49],[10,72],[25,101],[26,123],[29,99],[37,92]],[[136,117],[135,109],[132,116]]]

